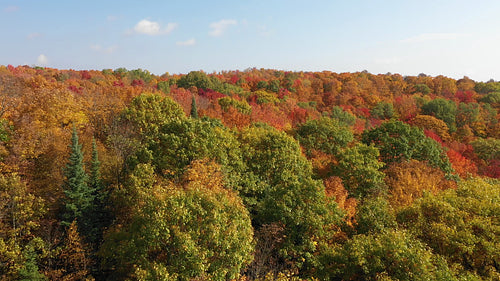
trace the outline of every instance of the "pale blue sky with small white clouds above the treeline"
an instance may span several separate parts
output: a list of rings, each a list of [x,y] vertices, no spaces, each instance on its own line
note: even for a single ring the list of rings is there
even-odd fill
[[[500,80],[500,1],[0,0],[0,65]]]

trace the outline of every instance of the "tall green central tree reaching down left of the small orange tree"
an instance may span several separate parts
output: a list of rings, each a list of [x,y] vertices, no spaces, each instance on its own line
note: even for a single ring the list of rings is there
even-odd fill
[[[330,237],[340,218],[337,206],[328,203],[299,144],[284,132],[251,127],[241,133],[240,142],[248,167],[245,176],[249,182],[256,180],[254,189],[248,185],[240,190],[254,214],[254,226],[282,224],[286,237],[277,249],[279,256],[307,270],[315,264],[318,241]]]

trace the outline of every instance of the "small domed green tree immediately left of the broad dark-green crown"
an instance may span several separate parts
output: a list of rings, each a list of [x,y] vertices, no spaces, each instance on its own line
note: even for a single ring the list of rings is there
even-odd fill
[[[354,139],[348,128],[328,117],[300,124],[295,135],[308,155],[311,154],[312,150],[337,155],[340,149],[346,147]]]

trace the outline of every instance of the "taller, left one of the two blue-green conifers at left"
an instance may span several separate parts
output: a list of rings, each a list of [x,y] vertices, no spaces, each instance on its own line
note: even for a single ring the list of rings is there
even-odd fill
[[[64,199],[61,223],[69,226],[71,222],[77,219],[80,226],[84,226],[85,219],[87,219],[85,214],[92,205],[93,195],[87,185],[88,176],[84,169],[82,146],[78,143],[78,134],[75,127],[73,127],[69,148],[71,154],[64,169],[63,190],[66,198]],[[82,230],[84,228],[81,227]]]

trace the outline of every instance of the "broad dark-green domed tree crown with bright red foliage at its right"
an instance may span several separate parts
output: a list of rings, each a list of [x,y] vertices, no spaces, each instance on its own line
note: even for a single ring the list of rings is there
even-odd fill
[[[403,122],[390,121],[364,131],[362,141],[374,144],[386,164],[415,159],[428,161],[432,167],[440,168],[445,173],[452,172],[451,164],[441,146],[426,137],[420,128]]]

